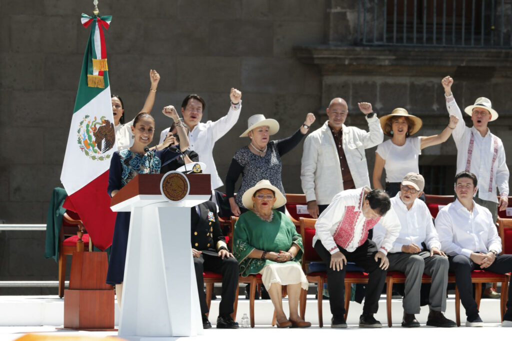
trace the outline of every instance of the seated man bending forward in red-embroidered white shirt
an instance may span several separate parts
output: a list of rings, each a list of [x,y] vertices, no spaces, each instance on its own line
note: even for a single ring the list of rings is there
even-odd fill
[[[373,314],[377,312],[380,293],[386,281],[386,254],[398,236],[400,224],[386,192],[368,187],[338,193],[315,224],[313,247],[327,267],[327,286],[331,306],[331,328],[347,328],[345,314],[345,272],[347,262],[354,262],[368,272],[368,286],[359,327],[381,328]],[[383,218],[382,218],[383,217]],[[368,239],[377,223],[387,228],[382,245],[377,248]]]

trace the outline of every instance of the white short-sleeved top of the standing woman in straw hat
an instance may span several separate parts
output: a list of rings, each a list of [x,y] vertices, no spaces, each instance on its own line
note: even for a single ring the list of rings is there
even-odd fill
[[[391,139],[378,145],[377,154],[386,162],[386,181],[401,183],[407,173],[419,173],[419,155],[421,154],[421,138],[407,138],[403,146],[395,145]]]

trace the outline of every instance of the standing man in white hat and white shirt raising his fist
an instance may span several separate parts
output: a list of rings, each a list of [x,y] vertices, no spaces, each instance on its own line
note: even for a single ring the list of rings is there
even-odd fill
[[[493,109],[488,98],[477,98],[474,105],[464,109],[473,121],[473,127],[466,127],[452,94],[453,78],[446,76],[441,84],[444,87],[448,112],[459,118],[459,123],[453,131],[453,139],[457,146],[457,173],[466,171],[476,175],[480,186],[474,200],[487,208],[496,222],[498,207],[500,211],[504,211],[508,206],[509,176],[503,143],[487,127],[488,122],[498,118],[498,112]],[[499,200],[496,188],[499,190]]]

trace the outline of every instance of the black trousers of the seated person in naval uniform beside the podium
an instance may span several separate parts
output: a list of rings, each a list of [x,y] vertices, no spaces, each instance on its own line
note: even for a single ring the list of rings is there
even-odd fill
[[[201,314],[208,312],[206,295],[204,293],[204,270],[216,272],[222,275],[222,299],[219,305],[219,315],[229,315],[233,312],[233,304],[238,286],[238,261],[233,257],[220,258],[201,254],[194,257],[194,268],[196,270],[197,290],[199,292],[199,304]]]

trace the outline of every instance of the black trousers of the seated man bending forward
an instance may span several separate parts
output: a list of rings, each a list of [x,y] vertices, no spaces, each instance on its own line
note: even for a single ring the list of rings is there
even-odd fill
[[[334,316],[343,316],[345,314],[345,273],[346,268],[337,271],[329,267],[331,262],[331,254],[324,247],[322,242],[318,240],[315,243],[315,250],[322,258],[327,266],[327,289],[329,290],[329,304],[331,306],[331,313]],[[379,308],[379,298],[382,288],[386,283],[386,274],[388,271],[382,270],[376,262],[374,257],[377,253],[377,246],[375,243],[367,239],[361,246],[356,248],[353,252],[348,252],[346,249],[338,246],[339,251],[342,252],[347,258],[348,262],[353,262],[355,265],[365,269],[368,272],[368,286],[366,288],[365,304],[362,307],[364,314],[376,313]]]

